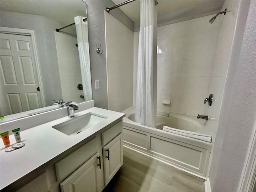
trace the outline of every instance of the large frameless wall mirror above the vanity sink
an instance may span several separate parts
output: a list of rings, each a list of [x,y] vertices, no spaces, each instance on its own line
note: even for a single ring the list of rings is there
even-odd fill
[[[81,16],[87,30],[84,1],[1,0],[0,10],[1,122],[92,99],[88,31],[77,38],[74,24]]]

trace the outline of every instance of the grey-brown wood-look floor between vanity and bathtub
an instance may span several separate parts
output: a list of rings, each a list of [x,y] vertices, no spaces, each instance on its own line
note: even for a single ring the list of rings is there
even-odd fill
[[[204,192],[204,181],[124,147],[124,164],[103,192]]]

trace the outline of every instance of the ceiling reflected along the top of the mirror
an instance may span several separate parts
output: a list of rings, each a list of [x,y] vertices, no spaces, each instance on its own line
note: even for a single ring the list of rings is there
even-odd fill
[[[68,25],[74,16],[87,16],[82,0],[0,0],[0,10],[44,16]]]

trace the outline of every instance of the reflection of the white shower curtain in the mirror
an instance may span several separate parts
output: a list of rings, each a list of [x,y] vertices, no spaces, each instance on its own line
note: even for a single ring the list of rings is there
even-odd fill
[[[88,42],[88,25],[87,21],[83,21],[86,17],[74,17],[76,24],[76,36],[80,60],[80,68],[82,74],[82,84],[84,92],[84,100],[92,100],[92,82],[90,70],[90,55],[89,55],[89,42]]]

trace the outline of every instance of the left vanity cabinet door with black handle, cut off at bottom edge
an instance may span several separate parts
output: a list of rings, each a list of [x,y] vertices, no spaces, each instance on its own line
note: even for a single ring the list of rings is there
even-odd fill
[[[96,153],[61,182],[61,192],[100,192],[103,181],[100,176],[99,165],[101,162],[99,157],[99,153]]]

